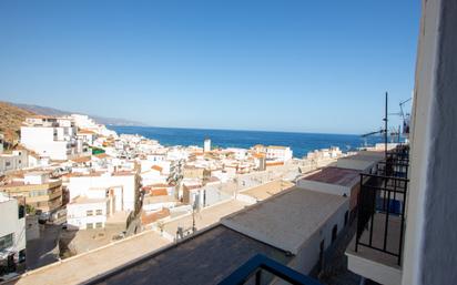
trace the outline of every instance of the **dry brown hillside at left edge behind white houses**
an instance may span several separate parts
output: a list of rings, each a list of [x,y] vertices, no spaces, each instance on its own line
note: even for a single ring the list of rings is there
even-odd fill
[[[19,140],[21,123],[27,116],[34,114],[29,110],[0,102],[0,133],[4,135],[7,144],[12,145]]]

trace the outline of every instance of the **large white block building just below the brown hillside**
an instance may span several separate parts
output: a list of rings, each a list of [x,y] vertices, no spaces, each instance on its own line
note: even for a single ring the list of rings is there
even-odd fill
[[[21,144],[51,160],[69,160],[89,151],[78,139],[74,122],[65,118],[27,118],[21,126]]]

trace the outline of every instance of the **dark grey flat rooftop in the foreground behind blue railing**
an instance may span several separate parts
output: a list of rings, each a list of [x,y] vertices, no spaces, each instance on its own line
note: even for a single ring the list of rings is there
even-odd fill
[[[217,225],[92,284],[213,285],[256,254],[286,264],[285,252]]]

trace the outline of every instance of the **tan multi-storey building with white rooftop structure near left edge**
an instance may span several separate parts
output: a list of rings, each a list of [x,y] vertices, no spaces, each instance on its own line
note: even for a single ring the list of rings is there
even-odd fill
[[[22,179],[13,179],[0,185],[0,191],[49,217],[62,206],[62,181],[51,179],[49,172],[23,173]]]

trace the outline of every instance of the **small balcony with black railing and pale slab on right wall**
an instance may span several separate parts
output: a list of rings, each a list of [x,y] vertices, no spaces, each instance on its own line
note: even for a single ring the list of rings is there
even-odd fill
[[[348,268],[382,284],[400,284],[408,191],[408,149],[397,147],[360,174],[357,231],[346,250]]]

